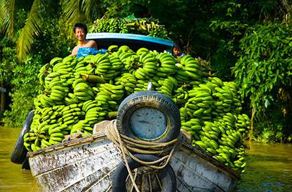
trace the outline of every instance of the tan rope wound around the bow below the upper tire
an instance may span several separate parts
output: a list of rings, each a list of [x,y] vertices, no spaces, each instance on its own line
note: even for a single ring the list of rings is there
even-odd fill
[[[122,159],[124,160],[129,176],[137,192],[139,192],[139,189],[137,184],[135,184],[135,180],[132,176],[131,169],[128,166],[128,160],[126,159],[126,156],[130,156],[138,163],[152,169],[164,169],[164,167],[166,167],[166,165],[169,163],[172,154],[174,154],[175,149],[181,144],[181,139],[173,139],[167,143],[154,143],[132,139],[124,134],[120,134],[119,130],[117,130],[115,120],[112,120],[111,123],[106,126],[105,133],[106,136],[113,143],[115,143],[115,145],[119,147],[120,151],[122,152]],[[160,158],[158,160],[148,162],[136,158],[132,152],[137,152],[139,154],[155,154],[160,156]]]

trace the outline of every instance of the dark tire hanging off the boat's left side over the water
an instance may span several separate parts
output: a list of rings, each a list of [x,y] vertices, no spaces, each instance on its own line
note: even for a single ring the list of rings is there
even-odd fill
[[[30,125],[32,124],[32,118],[34,117],[34,110],[30,111],[24,121],[23,128],[19,134],[14,149],[12,151],[10,160],[12,163],[22,164],[25,161],[27,149],[23,146],[23,135],[30,131]]]

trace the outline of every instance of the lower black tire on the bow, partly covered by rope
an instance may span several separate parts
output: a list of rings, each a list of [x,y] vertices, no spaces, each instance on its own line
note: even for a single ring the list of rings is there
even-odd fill
[[[135,157],[144,160],[144,161],[153,161],[158,160],[157,156],[149,155],[149,154],[135,154]],[[131,170],[136,169],[138,167],[142,167],[144,165],[138,163],[132,158],[127,158],[128,165]],[[126,169],[126,165],[124,162],[121,162],[117,169],[113,172],[112,176],[112,190],[113,192],[126,192],[126,178],[128,177],[128,170]],[[161,180],[161,183],[164,185],[164,192],[175,192],[177,190],[177,178],[175,176],[175,171],[173,171],[170,164],[166,165],[164,169],[160,169],[158,173],[158,177]]]

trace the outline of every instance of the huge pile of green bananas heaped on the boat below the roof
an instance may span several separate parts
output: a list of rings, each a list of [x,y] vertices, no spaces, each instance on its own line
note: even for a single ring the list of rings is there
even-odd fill
[[[177,60],[168,52],[123,45],[111,51],[77,59],[54,58],[38,74],[43,93],[34,99],[36,108],[25,147],[35,151],[60,143],[69,134],[92,134],[93,125],[115,118],[122,100],[132,93],[153,90],[178,104],[181,129],[214,158],[245,171],[243,138],[249,117],[241,114],[234,82],[210,77],[192,56]]]

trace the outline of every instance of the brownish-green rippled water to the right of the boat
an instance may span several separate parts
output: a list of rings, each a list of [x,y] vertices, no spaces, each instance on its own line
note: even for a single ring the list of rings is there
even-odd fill
[[[292,145],[250,143],[236,191],[292,191]]]

